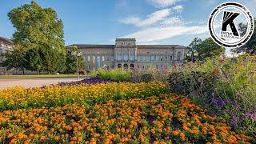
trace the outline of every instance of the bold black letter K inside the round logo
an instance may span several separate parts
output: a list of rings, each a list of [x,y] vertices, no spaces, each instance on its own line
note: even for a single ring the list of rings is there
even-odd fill
[[[226,27],[230,25],[230,29],[234,36],[239,36],[238,30],[234,25],[234,19],[238,17],[238,13],[224,11],[223,21],[222,21],[222,31],[226,31]]]

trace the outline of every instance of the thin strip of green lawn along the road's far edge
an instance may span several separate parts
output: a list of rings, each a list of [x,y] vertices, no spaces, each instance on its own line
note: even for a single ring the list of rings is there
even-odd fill
[[[77,74],[24,74],[24,75],[0,75],[0,78],[67,78],[77,77]],[[90,77],[90,74],[81,75],[80,77]]]

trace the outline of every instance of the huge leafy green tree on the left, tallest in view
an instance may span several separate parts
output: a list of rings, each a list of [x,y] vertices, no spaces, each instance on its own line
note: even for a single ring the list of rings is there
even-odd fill
[[[33,65],[30,67],[36,66],[37,70],[42,67],[49,73],[65,70],[63,24],[53,9],[42,8],[32,1],[10,10],[8,16],[16,29],[13,34],[14,43],[25,50],[37,50],[42,59],[29,62]]]

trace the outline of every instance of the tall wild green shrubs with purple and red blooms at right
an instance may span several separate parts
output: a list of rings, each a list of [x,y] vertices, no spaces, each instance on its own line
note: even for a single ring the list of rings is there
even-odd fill
[[[237,130],[256,136],[256,56],[214,58],[170,71],[170,89],[186,94]]]

